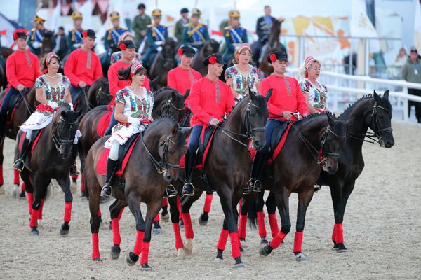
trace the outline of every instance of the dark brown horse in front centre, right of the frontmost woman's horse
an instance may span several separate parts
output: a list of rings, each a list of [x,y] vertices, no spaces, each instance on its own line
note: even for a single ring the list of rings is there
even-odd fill
[[[182,219],[185,223],[187,239],[184,246],[185,253],[192,253],[193,247],[194,232],[189,214],[190,207],[199,199],[204,190],[215,190],[220,197],[225,214],[222,232],[225,232],[225,237],[229,235],[231,239],[234,267],[243,267],[237,235],[238,214],[235,207],[241,199],[243,186],[250,175],[249,141],[251,140],[253,148],[258,151],[265,146],[265,124],[269,116],[266,102],[271,95],[272,90],[269,90],[266,97],[250,94],[234,107],[227,120],[215,131],[203,171],[201,174],[196,171],[193,174],[194,195],[182,202]],[[239,166],[241,169],[238,168]],[[180,173],[180,178],[183,177],[184,172]],[[173,204],[173,200],[169,202],[171,203],[171,220],[174,224],[178,219],[178,209]],[[180,233],[175,232],[175,236],[180,236]]]

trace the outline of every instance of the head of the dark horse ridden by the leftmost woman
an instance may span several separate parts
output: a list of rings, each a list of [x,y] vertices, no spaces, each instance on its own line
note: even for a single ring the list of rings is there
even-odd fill
[[[79,125],[79,116],[81,116],[81,111],[71,111],[67,104],[66,108],[60,107],[55,114],[52,123],[53,140],[63,159],[67,159],[71,155],[74,137]]]

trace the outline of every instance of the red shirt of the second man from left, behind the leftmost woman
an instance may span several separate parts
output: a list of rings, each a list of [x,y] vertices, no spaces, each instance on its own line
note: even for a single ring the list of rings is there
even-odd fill
[[[86,52],[81,48],[70,52],[64,70],[70,83],[75,87],[79,87],[81,80],[86,85],[92,85],[95,80],[102,77],[100,57],[93,51]]]

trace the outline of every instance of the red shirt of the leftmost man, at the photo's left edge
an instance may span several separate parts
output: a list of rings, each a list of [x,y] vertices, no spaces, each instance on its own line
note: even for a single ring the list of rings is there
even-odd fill
[[[15,51],[6,60],[6,77],[9,86],[33,87],[36,78],[41,76],[39,71],[39,59],[29,50],[25,52]]]

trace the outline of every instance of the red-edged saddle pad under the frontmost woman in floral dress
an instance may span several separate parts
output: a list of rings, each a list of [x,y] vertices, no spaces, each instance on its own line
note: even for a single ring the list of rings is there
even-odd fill
[[[136,142],[138,141],[140,137],[140,133],[134,134],[126,144],[120,146],[119,148],[119,163],[116,171],[117,176],[121,176],[124,174],[124,170],[126,169],[127,162],[131,156],[131,153],[133,152],[133,148],[135,147]],[[106,175],[107,174],[107,160],[109,155],[109,149],[104,148],[101,152],[100,159],[98,160],[97,166],[96,166],[96,172],[100,175]],[[123,160],[120,160],[123,159]]]

